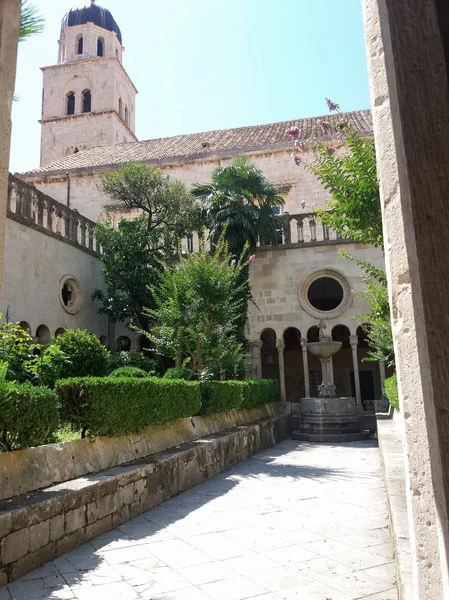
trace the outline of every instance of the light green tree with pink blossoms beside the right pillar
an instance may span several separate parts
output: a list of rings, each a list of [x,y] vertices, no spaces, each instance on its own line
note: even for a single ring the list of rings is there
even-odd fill
[[[327,104],[331,112],[339,112],[337,104],[330,100],[327,100]],[[320,125],[324,132],[330,127],[326,121],[321,122]],[[338,153],[334,146],[325,144],[320,139],[300,144],[299,133],[298,128],[290,128],[286,131],[287,135],[295,138],[293,158],[296,164],[302,162],[304,150],[311,150],[312,161],[307,162],[305,167],[317,177],[331,196],[327,202],[331,211],[318,211],[318,219],[345,238],[383,250],[382,213],[374,140],[362,137],[344,120],[341,122],[340,136],[345,148],[342,154]],[[357,260],[346,252],[342,254],[354,260],[364,271],[364,300],[369,312],[360,315],[357,319],[362,323],[369,322],[369,326],[364,326],[372,348],[367,360],[380,360],[393,364],[393,335],[385,271],[377,269],[370,263]]]

